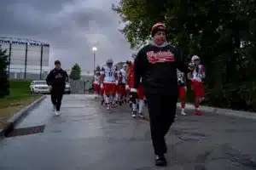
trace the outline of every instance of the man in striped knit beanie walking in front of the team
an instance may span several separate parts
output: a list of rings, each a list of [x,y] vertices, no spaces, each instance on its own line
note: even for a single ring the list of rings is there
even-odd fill
[[[151,138],[155,165],[166,166],[165,135],[174,122],[178,98],[177,69],[188,72],[177,49],[166,42],[166,26],[156,23],[151,30],[154,41],[142,48],[134,63],[134,88],[131,99],[137,98],[137,88],[143,78],[144,95],[148,101]]]

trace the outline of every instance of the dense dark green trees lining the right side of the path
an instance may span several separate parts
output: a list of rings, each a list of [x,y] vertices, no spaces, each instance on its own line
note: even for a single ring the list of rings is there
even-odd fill
[[[253,0],[120,0],[113,4],[131,44],[140,48],[164,21],[167,40],[206,66],[207,105],[256,111],[256,2]],[[188,101],[192,97],[189,94]]]

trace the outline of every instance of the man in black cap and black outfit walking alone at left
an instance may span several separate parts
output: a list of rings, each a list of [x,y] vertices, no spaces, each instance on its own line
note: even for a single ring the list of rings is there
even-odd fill
[[[51,102],[55,115],[60,115],[61,100],[65,92],[66,82],[68,82],[67,72],[61,69],[61,62],[55,61],[55,69],[49,72],[46,82],[49,86]]]

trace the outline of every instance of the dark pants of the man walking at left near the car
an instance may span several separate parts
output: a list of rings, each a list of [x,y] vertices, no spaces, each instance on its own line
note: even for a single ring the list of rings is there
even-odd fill
[[[61,100],[64,94],[65,88],[54,87],[50,92],[51,102],[56,107],[56,111],[61,110]]]

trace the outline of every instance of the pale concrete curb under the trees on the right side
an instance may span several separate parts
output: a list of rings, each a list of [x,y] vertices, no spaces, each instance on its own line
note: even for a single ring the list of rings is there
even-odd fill
[[[177,108],[180,108],[180,103],[177,103]],[[201,111],[206,111],[216,115],[225,115],[225,116],[238,116],[248,119],[256,120],[256,113],[248,112],[248,111],[234,111],[230,109],[221,109],[217,107],[208,107],[208,106],[200,106]],[[195,106],[191,104],[186,104],[185,110],[193,110],[195,111]]]

